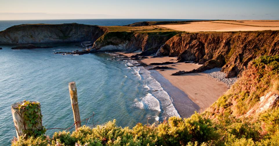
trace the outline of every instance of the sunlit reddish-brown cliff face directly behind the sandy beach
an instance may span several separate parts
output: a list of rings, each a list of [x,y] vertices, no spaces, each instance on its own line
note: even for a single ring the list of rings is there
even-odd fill
[[[204,64],[204,71],[222,67],[227,77],[238,75],[248,62],[261,55],[279,53],[279,31],[186,33],[169,39],[158,55],[178,56],[179,61]]]

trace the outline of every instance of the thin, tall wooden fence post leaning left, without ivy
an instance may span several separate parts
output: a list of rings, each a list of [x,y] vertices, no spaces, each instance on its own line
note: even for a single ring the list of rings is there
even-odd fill
[[[81,121],[79,116],[79,104],[77,102],[77,87],[75,82],[69,83],[70,98],[74,113],[75,128],[76,130],[81,127]]]

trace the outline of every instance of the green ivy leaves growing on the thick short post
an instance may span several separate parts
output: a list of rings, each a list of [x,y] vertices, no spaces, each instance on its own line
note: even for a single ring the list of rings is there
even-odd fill
[[[40,103],[24,100],[24,103],[19,104],[18,107],[19,112],[23,113],[25,128],[28,127],[23,130],[24,134],[26,134],[26,138],[31,136],[38,137],[42,134],[45,134],[46,128],[42,126],[41,123],[43,116],[41,114]]]

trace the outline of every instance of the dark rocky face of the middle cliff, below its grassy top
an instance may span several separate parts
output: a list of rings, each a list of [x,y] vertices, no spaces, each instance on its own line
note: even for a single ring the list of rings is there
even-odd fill
[[[151,55],[171,37],[178,32],[108,32],[97,39],[91,48],[91,52],[96,51],[137,51],[140,55]]]

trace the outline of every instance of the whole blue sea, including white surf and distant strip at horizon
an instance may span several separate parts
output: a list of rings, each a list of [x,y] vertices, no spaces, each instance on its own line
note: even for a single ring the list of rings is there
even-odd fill
[[[0,31],[19,24],[79,23],[122,26],[139,21],[185,21],[189,19],[80,19],[0,21]],[[48,44],[49,45],[49,44]],[[41,103],[43,125],[68,128],[74,123],[68,83],[76,82],[81,119],[94,117],[82,125],[94,127],[116,119],[116,125],[133,127],[158,123],[180,116],[164,91],[144,67],[113,53],[85,55],[53,54],[82,50],[79,43],[52,44],[54,48],[12,50],[16,45],[0,45],[0,145],[11,144],[16,136],[11,105],[23,100]],[[74,129],[71,129],[74,130]],[[70,131],[71,131],[70,130]],[[49,129],[52,135],[58,129]]]

